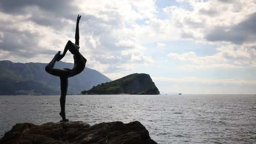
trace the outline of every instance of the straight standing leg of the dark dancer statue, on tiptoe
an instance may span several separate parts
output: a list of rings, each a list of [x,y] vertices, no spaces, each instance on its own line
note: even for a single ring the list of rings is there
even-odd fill
[[[68,77],[60,77],[60,113],[59,115],[62,117],[62,121],[69,121],[66,119],[66,113],[65,113],[65,105],[66,105],[66,95],[68,90]]]

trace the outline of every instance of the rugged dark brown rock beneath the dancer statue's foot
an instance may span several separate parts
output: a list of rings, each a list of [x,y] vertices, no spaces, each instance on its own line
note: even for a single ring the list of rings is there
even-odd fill
[[[82,121],[16,124],[0,144],[157,144],[139,122],[103,122],[90,126]]]

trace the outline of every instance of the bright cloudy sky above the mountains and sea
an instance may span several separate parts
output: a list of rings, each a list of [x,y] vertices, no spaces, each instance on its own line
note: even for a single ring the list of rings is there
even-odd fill
[[[147,73],[161,94],[256,94],[256,0],[0,0],[0,60],[48,63],[75,42],[78,14],[86,66],[112,80]]]

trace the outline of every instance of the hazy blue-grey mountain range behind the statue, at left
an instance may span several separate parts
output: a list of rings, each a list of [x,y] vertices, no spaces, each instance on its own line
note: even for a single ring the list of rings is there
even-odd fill
[[[60,94],[59,77],[45,71],[46,63],[14,63],[0,61],[0,95]],[[55,68],[72,68],[72,63],[56,62]],[[69,78],[69,94],[78,94],[102,82],[111,82],[100,72],[85,67],[84,71]]]

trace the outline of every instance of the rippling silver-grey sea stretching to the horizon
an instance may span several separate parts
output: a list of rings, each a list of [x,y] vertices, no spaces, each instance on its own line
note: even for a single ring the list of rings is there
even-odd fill
[[[1,95],[0,137],[16,123],[59,122],[59,95]],[[66,117],[140,121],[158,144],[256,144],[256,95],[67,95]]]

